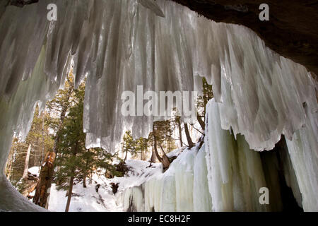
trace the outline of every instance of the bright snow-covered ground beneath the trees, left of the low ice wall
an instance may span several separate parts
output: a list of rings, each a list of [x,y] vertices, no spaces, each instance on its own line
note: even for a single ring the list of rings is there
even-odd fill
[[[175,150],[172,155],[177,155],[179,150]],[[73,186],[73,196],[71,198],[70,212],[120,212],[123,211],[122,201],[119,198],[123,191],[139,186],[152,177],[163,173],[160,163],[155,163],[151,167],[149,162],[141,160],[126,160],[129,171],[124,177],[114,177],[107,179],[104,174],[94,174],[92,183],[87,179],[86,188],[83,184]],[[117,194],[113,194],[111,183],[119,185]],[[100,184],[98,192],[96,186]],[[57,191],[56,184],[52,184],[49,196],[49,210],[62,212],[66,207],[66,191]]]

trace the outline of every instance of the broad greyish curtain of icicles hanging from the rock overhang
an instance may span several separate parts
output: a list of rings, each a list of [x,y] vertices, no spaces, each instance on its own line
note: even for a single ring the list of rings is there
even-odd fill
[[[272,149],[281,133],[291,139],[305,124],[304,102],[317,110],[306,69],[271,52],[251,30],[214,23],[171,1],[158,0],[155,7],[139,2],[44,0],[7,6],[0,25],[0,95],[17,92],[47,43],[44,69],[52,81],[61,81],[69,54],[76,84],[88,75],[88,146],[108,147],[123,126],[134,125],[136,136],[151,130],[153,117],[119,113],[124,90],[136,93],[143,85],[143,90],[191,91],[198,75],[208,78],[216,100],[223,102],[222,128],[242,133],[255,150]],[[49,3],[57,4],[57,21],[45,19]],[[146,3],[165,18],[143,7]]]

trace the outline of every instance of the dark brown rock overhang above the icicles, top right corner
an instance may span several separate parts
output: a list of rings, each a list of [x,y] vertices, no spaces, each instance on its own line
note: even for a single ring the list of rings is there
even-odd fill
[[[252,29],[267,47],[318,74],[318,2],[314,0],[172,0],[216,22]],[[260,4],[269,21],[259,20]]]

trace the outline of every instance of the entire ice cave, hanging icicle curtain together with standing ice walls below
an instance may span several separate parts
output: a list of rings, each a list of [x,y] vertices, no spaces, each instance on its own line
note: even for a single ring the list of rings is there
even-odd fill
[[[0,2],[1,211],[45,210],[11,186],[4,168],[13,134],[28,134],[35,105],[54,97],[70,67],[75,86],[87,78],[86,147],[110,151],[123,128],[146,136],[163,119],[123,117],[123,91],[200,93],[201,77],[213,87],[204,138],[123,191],[124,210],[281,211],[287,202],[318,211],[317,78],[253,30],[175,1],[8,2]],[[49,4],[57,20],[47,19]],[[268,205],[259,203],[261,187]]]

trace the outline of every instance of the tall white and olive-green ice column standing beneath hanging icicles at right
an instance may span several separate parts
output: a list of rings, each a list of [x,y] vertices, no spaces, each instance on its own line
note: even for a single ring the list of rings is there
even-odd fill
[[[220,107],[206,107],[206,163],[213,211],[264,211],[259,189],[266,187],[259,153],[249,149],[243,136],[235,141],[220,125]]]

